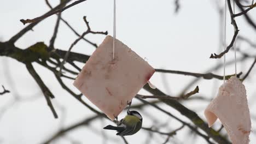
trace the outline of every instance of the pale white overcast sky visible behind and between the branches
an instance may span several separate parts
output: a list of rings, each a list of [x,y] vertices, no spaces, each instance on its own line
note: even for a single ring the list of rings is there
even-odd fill
[[[53,4],[57,4],[59,1],[50,1]],[[224,3],[224,2],[223,2]],[[11,36],[20,31],[25,26],[19,21],[20,19],[32,19],[33,17],[40,16],[48,11],[43,0],[41,1],[14,1],[5,0],[0,5],[0,37],[3,41],[8,40]],[[62,17],[68,20],[69,23],[82,34],[85,31],[86,26],[83,22],[83,16],[87,16],[90,26],[94,31],[108,31],[112,35],[113,31],[113,2],[110,0],[88,0],[82,4],[63,12]],[[251,16],[256,14],[256,10],[249,12]],[[171,70],[183,70],[196,73],[203,73],[205,70],[211,68],[217,62],[222,62],[222,59],[210,59],[211,53],[218,52],[219,50],[219,17],[214,2],[200,0],[200,1],[181,1],[181,9],[178,14],[174,14],[174,1],[162,0],[141,0],[141,1],[117,1],[117,38],[129,47],[141,57],[146,57],[149,64],[154,68],[163,68]],[[55,26],[56,15],[49,17],[48,19],[40,22],[39,25],[33,28],[33,32],[30,31],[24,35],[16,43],[16,46],[21,49],[37,43],[38,41],[44,41],[45,44],[49,44],[49,40],[53,33]],[[238,27],[240,28],[240,34],[246,37],[256,40],[255,29],[252,29],[245,23],[245,19],[238,17]],[[230,25],[229,15],[227,22],[227,40],[232,38],[233,27]],[[88,35],[86,38],[95,41],[100,44],[104,39],[104,35]],[[71,43],[77,39],[77,36],[71,32],[67,26],[61,22],[60,30],[57,35],[55,47],[58,49],[67,50]],[[220,47],[220,49],[223,49]],[[247,45],[242,45],[242,50],[251,49]],[[85,53],[91,55],[95,50],[94,47],[80,41],[73,47],[73,51]],[[251,51],[255,54],[255,50]],[[239,55],[238,55],[239,57]],[[227,59],[234,59],[234,53],[229,52]],[[243,71],[246,73],[249,66],[252,63],[252,59],[247,61],[247,64],[238,63],[238,72]],[[54,75],[48,70],[40,67],[37,64],[33,64],[46,85],[54,93],[56,99],[54,105],[62,105],[66,109],[66,121],[63,122],[64,127],[78,122],[79,120],[92,116],[94,113],[86,109],[82,104],[79,104],[77,100],[73,99],[65,90],[63,90],[59,83],[57,83]],[[83,64],[80,64],[82,67]],[[8,66],[8,67],[7,67]],[[9,71],[7,70],[9,69]],[[222,75],[223,70],[216,71],[217,74]],[[234,73],[234,65],[228,67],[227,74]],[[251,80],[245,81],[247,88],[247,94],[249,104],[255,100],[251,99],[255,91],[255,68],[252,71]],[[10,75],[11,77],[9,77]],[[163,77],[168,83],[168,89],[163,84]],[[160,74],[155,73],[151,81],[164,92],[175,95],[178,94],[181,89],[187,85],[188,82],[193,80],[194,77],[174,75],[174,74]],[[10,82],[13,79],[13,83]],[[72,89],[75,89],[72,85],[72,81],[65,80],[66,84]],[[218,87],[222,84],[222,81],[214,80],[202,80],[200,83],[196,83],[200,87],[200,95],[211,98],[218,91]],[[36,82],[28,74],[24,64],[15,61],[11,58],[0,57],[0,85],[4,85],[5,88],[11,91],[10,94],[6,94],[0,98],[0,106],[10,103],[13,99],[13,95],[20,95],[22,98],[40,97],[33,101],[26,101],[22,103],[16,103],[11,109],[5,113],[2,119],[0,119],[0,140],[3,143],[40,143],[46,140],[51,134],[55,133],[60,125],[60,119],[54,119],[48,106],[45,103],[43,94],[40,93],[40,89]],[[190,89],[193,89],[192,86]],[[16,89],[16,90],[15,90]],[[16,91],[16,92],[15,92]],[[76,92],[78,92],[75,89]],[[141,93],[143,93],[142,91]],[[85,101],[88,100],[85,98]],[[89,103],[89,102],[88,102]],[[134,101],[138,103],[138,101]],[[91,104],[91,103],[90,103]],[[163,108],[170,112],[180,116],[177,111],[172,108],[161,105]],[[197,113],[200,117],[203,116],[203,110],[207,106],[207,103],[185,103],[185,106],[193,110],[199,110]],[[148,109],[151,109],[148,107]],[[250,105],[251,113],[253,108]],[[57,110],[59,116],[61,115],[60,109]],[[162,119],[162,122],[170,121],[171,128],[177,128],[177,123],[172,118],[163,115],[162,113],[150,110],[150,113],[158,113],[156,116]],[[125,113],[122,114],[122,116]],[[121,117],[121,116],[120,116]],[[254,121],[255,122],[255,121]],[[252,123],[253,128],[254,122]],[[101,124],[100,121],[93,123],[94,130],[101,131],[102,127],[108,124],[109,121]],[[147,121],[147,118],[143,119],[143,126],[150,127],[152,122]],[[163,129],[163,131],[166,129]],[[119,137],[115,136],[114,131],[108,131],[108,135],[115,137],[115,139],[123,142]],[[101,133],[100,133],[101,134]],[[146,139],[143,130],[133,136],[128,136],[127,140],[130,143],[143,143]],[[191,142],[191,137],[187,138],[187,130],[181,131],[175,136],[177,141]],[[82,143],[94,142],[101,143],[102,137],[96,133],[92,133],[92,130],[88,127],[74,130],[72,133],[68,133],[72,139],[81,141]],[[144,137],[142,137],[142,135]],[[157,135],[157,134],[155,134]],[[158,138],[155,138],[159,140]],[[165,138],[164,138],[165,139]],[[160,139],[164,142],[164,139]],[[201,143],[206,143],[204,140],[200,140]],[[55,141],[56,143],[65,143],[65,139]],[[156,142],[156,141],[155,141]],[[154,141],[152,143],[155,143]],[[251,143],[255,143],[255,134],[251,134]],[[0,142],[1,143],[1,142]],[[109,141],[108,143],[111,143]]]

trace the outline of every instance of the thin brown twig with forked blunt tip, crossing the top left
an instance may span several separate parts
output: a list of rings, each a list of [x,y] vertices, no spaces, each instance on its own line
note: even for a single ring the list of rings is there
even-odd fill
[[[46,17],[49,17],[49,16],[54,15],[54,14],[57,14],[57,13],[61,13],[62,11],[66,10],[66,9],[68,9],[68,8],[71,8],[71,7],[73,7],[74,5],[77,5],[77,4],[79,4],[79,3],[85,2],[85,1],[86,1],[86,0],[78,0],[78,1],[73,2],[72,4],[67,5],[67,6],[64,7],[64,8],[59,8],[59,9],[57,9],[57,10],[55,10],[55,11],[52,11],[51,13],[47,13],[47,14],[45,14],[45,15],[36,17],[36,18],[34,18],[34,19],[32,19],[32,20],[31,20],[31,19],[27,19],[27,20],[21,19],[20,21],[21,21],[24,25],[25,25],[26,23],[38,22],[38,21],[41,21],[41,20],[45,19]]]

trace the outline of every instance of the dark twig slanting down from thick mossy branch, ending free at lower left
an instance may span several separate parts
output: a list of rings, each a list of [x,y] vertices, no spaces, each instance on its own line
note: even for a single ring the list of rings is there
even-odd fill
[[[58,118],[57,113],[53,107],[53,104],[51,104],[51,100],[50,100],[50,98],[54,98],[53,93],[51,93],[49,88],[45,86],[44,82],[42,81],[40,76],[37,74],[36,70],[34,70],[33,65],[31,63],[27,63],[26,67],[27,67],[28,72],[30,72],[31,76],[34,78],[34,80],[36,80],[37,84],[41,88],[41,90],[44,94],[44,97],[46,99],[46,102],[47,102],[48,106],[50,107],[51,112],[53,112],[54,117]]]

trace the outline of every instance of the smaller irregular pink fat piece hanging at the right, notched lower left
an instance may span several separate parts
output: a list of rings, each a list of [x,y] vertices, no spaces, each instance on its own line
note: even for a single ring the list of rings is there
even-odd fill
[[[219,118],[234,144],[249,143],[251,117],[246,97],[245,86],[232,76],[205,110],[209,127]]]

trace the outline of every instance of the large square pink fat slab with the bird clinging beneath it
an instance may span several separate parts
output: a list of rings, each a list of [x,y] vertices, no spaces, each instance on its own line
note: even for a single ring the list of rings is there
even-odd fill
[[[107,36],[78,74],[73,85],[110,119],[118,116],[155,73],[125,44]]]

